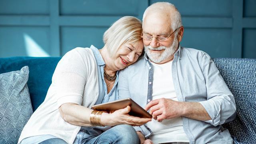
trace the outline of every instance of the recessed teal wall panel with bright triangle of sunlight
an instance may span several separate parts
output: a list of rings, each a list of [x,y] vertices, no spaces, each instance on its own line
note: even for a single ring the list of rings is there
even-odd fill
[[[0,57],[49,56],[49,29],[46,26],[0,26]]]

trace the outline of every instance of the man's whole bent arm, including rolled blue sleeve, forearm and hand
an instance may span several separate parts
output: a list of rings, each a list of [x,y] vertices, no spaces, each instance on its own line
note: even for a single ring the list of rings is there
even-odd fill
[[[150,109],[154,119],[162,121],[166,118],[185,116],[217,126],[235,118],[234,96],[208,54],[202,54],[200,67],[206,81],[207,100],[202,102],[177,102],[164,98],[153,100],[145,109]]]

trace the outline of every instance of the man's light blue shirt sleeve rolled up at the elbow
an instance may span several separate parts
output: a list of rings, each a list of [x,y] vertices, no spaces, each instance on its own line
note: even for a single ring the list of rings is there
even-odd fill
[[[205,122],[217,126],[234,120],[236,116],[234,96],[208,54],[202,54],[200,66],[206,81],[207,100],[199,103],[212,118]]]

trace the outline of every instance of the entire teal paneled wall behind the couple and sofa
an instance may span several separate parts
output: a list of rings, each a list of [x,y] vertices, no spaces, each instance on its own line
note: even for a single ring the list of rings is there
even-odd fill
[[[142,19],[160,0],[0,0],[0,57],[63,56],[102,48],[104,31],[122,16]],[[165,0],[182,15],[182,46],[212,57],[256,58],[256,0]]]

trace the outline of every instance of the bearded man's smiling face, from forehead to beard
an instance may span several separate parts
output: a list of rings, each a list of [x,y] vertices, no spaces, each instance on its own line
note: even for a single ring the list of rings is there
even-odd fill
[[[151,61],[155,63],[164,63],[172,59],[172,55],[178,48],[178,39],[170,28],[171,22],[169,16],[158,14],[148,14],[144,18],[143,35],[153,36],[152,40],[143,39],[145,52]],[[172,35],[170,35],[172,34]],[[163,36],[168,39],[159,41],[156,36]]]

